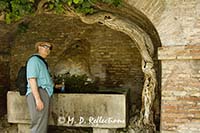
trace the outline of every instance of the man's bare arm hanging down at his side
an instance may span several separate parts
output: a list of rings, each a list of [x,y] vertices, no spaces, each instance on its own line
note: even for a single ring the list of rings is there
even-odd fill
[[[29,78],[29,83],[30,83],[30,87],[31,87],[33,97],[35,98],[36,109],[38,111],[41,111],[44,108],[44,104],[43,104],[42,99],[40,98],[36,78]]]

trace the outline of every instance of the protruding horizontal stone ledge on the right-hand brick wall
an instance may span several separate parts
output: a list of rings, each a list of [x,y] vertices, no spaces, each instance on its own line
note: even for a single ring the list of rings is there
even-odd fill
[[[158,48],[159,60],[200,59],[200,45],[163,46]]]

